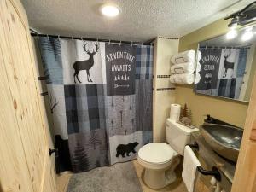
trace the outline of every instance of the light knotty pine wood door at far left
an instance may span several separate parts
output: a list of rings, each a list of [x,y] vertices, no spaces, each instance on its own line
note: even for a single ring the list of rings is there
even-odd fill
[[[4,192],[55,192],[26,12],[18,0],[1,0],[0,15],[0,185]]]

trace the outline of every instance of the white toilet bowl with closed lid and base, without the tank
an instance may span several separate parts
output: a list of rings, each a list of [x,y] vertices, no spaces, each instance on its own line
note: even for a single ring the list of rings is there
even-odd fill
[[[176,180],[179,154],[166,143],[149,143],[138,151],[137,160],[145,169],[143,182],[152,189],[164,188]]]

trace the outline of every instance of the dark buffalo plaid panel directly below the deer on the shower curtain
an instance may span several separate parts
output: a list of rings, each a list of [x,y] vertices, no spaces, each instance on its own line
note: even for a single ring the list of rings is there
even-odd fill
[[[103,84],[64,85],[68,134],[105,129]]]

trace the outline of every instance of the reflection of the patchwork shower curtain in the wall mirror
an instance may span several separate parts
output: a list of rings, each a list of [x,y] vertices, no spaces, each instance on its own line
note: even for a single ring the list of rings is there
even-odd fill
[[[250,46],[200,48],[201,80],[195,85],[197,93],[239,99],[246,73]]]

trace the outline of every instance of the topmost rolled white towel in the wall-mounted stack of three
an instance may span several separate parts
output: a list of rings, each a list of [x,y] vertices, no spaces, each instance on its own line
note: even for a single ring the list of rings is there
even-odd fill
[[[184,63],[184,62],[194,62],[195,61],[195,50],[187,50],[176,55],[172,55],[171,62],[174,64]]]

